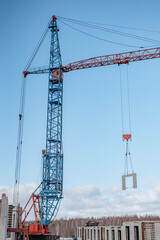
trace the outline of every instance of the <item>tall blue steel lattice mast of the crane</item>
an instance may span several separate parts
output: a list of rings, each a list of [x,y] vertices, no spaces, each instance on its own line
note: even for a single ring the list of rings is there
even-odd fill
[[[63,152],[62,152],[62,96],[63,72],[56,18],[51,29],[50,71],[48,85],[48,113],[46,150],[43,150],[43,179],[41,197],[41,225],[48,225],[62,198]],[[52,70],[51,70],[52,69]]]

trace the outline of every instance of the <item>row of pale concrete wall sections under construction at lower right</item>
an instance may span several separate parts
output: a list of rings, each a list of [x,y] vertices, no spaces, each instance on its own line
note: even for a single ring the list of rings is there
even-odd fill
[[[78,240],[159,240],[160,222],[124,222],[123,226],[77,228]]]

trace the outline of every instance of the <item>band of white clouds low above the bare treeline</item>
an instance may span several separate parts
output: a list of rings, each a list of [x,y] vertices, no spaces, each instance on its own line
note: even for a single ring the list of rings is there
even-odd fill
[[[64,191],[57,218],[100,217],[125,214],[160,214],[160,182],[150,179],[147,190],[121,191],[120,186],[99,189],[94,185],[77,186]],[[151,184],[151,182],[153,184]],[[20,202],[24,206],[35,183],[20,186]],[[0,186],[0,195],[6,193],[12,203],[13,188]]]

